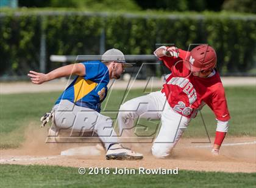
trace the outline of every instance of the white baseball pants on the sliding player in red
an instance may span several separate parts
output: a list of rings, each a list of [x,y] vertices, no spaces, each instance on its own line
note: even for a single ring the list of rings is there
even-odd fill
[[[152,146],[152,154],[165,158],[177,144],[190,118],[175,112],[166,101],[165,94],[158,91],[131,99],[121,105],[118,113],[119,134],[122,137],[133,136],[136,118],[161,119],[161,127]]]

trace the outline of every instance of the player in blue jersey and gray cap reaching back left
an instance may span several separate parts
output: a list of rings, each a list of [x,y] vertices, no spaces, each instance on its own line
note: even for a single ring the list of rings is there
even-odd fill
[[[93,129],[105,146],[107,159],[142,159],[142,154],[118,143],[112,119],[100,113],[109,80],[119,79],[124,67],[128,66],[131,64],[126,63],[120,50],[110,49],[102,55],[102,61],[65,65],[47,74],[30,71],[28,76],[34,84],[77,75],[57,99],[52,111],[41,118],[41,127],[52,120],[51,136],[57,135],[60,129],[78,132]]]

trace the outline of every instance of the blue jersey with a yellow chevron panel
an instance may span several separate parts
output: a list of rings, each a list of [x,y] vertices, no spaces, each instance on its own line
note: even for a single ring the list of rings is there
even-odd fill
[[[109,73],[101,61],[82,62],[85,65],[85,76],[77,76],[60,95],[55,104],[62,99],[74,102],[77,106],[101,111],[101,102],[107,96]]]

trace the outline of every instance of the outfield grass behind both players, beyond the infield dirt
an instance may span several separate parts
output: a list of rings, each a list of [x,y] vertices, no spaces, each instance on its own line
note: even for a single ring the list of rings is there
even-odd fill
[[[151,91],[146,91],[151,92]],[[131,90],[126,101],[137,96],[146,95],[142,89]],[[51,110],[55,100],[61,92],[51,93],[23,93],[1,95],[1,132],[0,147],[17,147],[24,139],[24,128],[32,124],[40,129],[40,117],[44,112]],[[108,92],[108,100],[102,104],[104,115],[115,120],[117,110],[123,99],[124,90]],[[226,87],[226,95],[230,115],[229,135],[256,136],[256,89],[255,87]],[[215,135],[216,120],[212,111],[205,106],[202,115],[210,136]],[[140,125],[149,127],[148,132],[138,132],[137,135],[152,135],[158,121],[140,121]],[[183,135],[185,137],[205,137],[204,124],[200,115],[197,115]]]

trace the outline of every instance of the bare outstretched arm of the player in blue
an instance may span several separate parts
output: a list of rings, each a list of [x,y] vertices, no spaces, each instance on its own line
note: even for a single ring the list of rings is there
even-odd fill
[[[30,76],[30,80],[34,84],[42,84],[43,82],[50,81],[55,78],[61,78],[70,75],[85,75],[85,66],[83,64],[70,64],[52,70],[51,72],[44,74],[30,70],[27,76]]]

